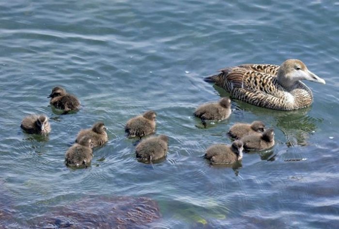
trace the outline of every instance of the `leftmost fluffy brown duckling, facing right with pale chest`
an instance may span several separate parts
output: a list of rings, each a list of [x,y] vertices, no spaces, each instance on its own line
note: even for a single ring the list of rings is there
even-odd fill
[[[51,131],[46,115],[29,115],[21,122],[21,129],[27,133],[48,134]]]

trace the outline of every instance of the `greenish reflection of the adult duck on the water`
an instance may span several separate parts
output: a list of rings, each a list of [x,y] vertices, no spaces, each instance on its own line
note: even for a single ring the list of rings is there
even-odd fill
[[[216,85],[213,85],[213,87],[219,93],[220,97],[230,97],[230,94],[223,88]],[[312,106],[294,111],[278,111],[257,107],[234,98],[232,98],[232,101],[236,102],[236,110],[257,115],[265,122],[269,118],[274,117],[275,125],[285,135],[286,145],[288,147],[307,146],[309,135],[317,131],[317,125],[323,122],[323,119],[308,115]]]

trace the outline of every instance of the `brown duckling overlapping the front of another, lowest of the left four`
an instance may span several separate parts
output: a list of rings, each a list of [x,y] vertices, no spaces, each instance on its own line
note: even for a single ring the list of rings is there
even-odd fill
[[[78,143],[73,144],[65,154],[67,166],[87,167],[93,158],[92,140],[89,136],[84,136]]]

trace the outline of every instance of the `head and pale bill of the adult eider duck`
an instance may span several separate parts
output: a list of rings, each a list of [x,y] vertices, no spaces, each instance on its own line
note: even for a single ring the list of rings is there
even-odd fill
[[[296,81],[307,80],[324,83],[325,81],[308,70],[307,66],[296,59],[289,59],[282,63],[277,72],[278,82],[284,87],[290,87]]]

